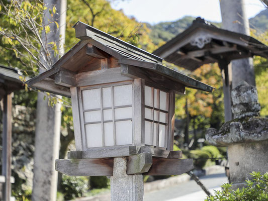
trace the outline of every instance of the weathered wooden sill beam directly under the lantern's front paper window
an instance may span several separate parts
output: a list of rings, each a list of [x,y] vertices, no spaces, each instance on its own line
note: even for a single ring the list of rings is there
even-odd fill
[[[70,151],[69,157],[71,159],[90,159],[90,158],[113,158],[126,157],[137,154],[140,146],[123,146],[114,148],[94,148],[90,151]]]

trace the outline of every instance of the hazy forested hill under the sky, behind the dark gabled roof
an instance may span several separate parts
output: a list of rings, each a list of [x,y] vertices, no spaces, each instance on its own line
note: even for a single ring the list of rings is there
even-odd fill
[[[156,25],[147,24],[147,27],[151,29],[149,37],[155,45],[160,46],[187,29],[192,24],[193,20],[195,20],[195,17],[186,16],[173,22],[161,22]],[[221,23],[211,23],[217,27],[221,27]],[[268,29],[268,9],[250,18],[249,24],[250,28],[255,29],[258,33],[262,33]]]

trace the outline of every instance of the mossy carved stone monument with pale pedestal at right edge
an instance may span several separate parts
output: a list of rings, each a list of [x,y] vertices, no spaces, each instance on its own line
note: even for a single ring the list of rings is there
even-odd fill
[[[230,182],[234,189],[241,189],[249,173],[268,171],[268,119],[259,117],[256,87],[243,81],[231,95],[234,120],[219,131],[208,129],[206,139],[212,145],[228,146]]]

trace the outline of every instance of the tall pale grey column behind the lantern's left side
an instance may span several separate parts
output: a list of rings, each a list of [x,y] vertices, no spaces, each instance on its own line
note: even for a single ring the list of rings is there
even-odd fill
[[[66,22],[66,0],[45,0],[45,6],[53,10],[55,5],[57,13],[51,17],[48,9],[44,13],[45,25],[49,22],[50,32],[42,33],[44,43],[56,42],[59,47],[59,54],[64,53],[65,22]],[[61,35],[61,37],[60,37]],[[52,63],[58,60],[54,51],[48,46]],[[46,66],[47,62],[43,61]],[[40,72],[41,73],[41,72]],[[48,98],[44,99],[44,93],[38,93],[37,99],[37,121],[35,132],[35,153],[34,153],[34,179],[32,200],[54,201],[57,195],[57,171],[55,171],[55,159],[59,156],[60,147],[60,126],[61,126],[61,104],[54,107],[48,105]]]

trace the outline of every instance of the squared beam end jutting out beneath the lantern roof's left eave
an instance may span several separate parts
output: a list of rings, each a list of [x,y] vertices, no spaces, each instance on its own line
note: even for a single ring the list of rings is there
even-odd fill
[[[73,87],[76,86],[75,78],[76,73],[65,68],[60,68],[59,72],[55,74],[55,84]]]

